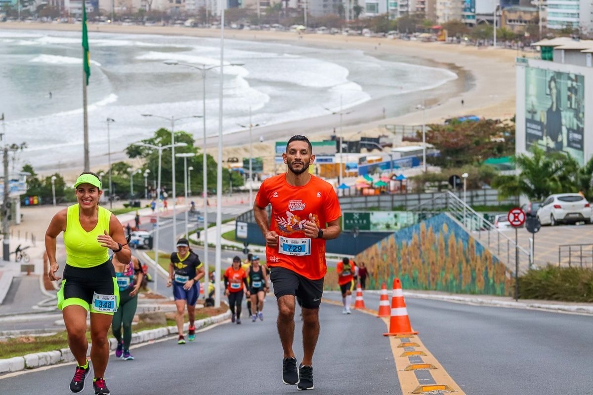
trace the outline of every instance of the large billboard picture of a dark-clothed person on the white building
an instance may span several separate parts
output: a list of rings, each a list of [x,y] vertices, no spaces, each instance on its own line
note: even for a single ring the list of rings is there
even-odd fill
[[[525,68],[525,149],[565,152],[583,165],[585,78]]]

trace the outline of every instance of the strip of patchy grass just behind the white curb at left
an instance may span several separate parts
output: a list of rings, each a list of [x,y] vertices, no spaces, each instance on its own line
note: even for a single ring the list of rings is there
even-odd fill
[[[227,311],[228,307],[223,305],[218,309],[214,307],[205,307],[203,309],[196,309],[196,320],[205,319],[208,317],[216,316]],[[167,314],[167,326],[175,326],[175,313],[172,316]],[[187,314],[185,316],[187,322]],[[150,324],[139,322],[132,326],[132,331],[138,333],[141,330],[157,329],[161,327],[157,324]],[[113,333],[109,330],[109,336],[113,337]],[[90,328],[87,330],[87,340],[91,341]],[[36,352],[45,352],[58,350],[60,348],[68,348],[68,335],[65,330],[50,336],[21,336],[19,338],[11,338],[0,341],[0,359],[22,357],[26,354],[32,354]]]

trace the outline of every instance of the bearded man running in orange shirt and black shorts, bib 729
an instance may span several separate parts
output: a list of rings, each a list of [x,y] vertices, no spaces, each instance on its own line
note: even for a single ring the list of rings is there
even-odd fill
[[[282,382],[313,386],[313,353],[319,336],[319,306],[327,272],[326,241],[340,235],[340,204],[331,184],[309,173],[315,155],[305,136],[292,136],[282,154],[288,171],[263,181],[253,205],[266,239],[266,262],[278,300]],[[266,207],[272,205],[272,219]],[[303,358],[292,350],[295,297],[302,306]]]

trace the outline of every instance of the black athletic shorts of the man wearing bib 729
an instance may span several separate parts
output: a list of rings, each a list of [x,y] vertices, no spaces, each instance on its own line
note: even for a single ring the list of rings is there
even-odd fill
[[[273,267],[270,268],[270,280],[274,285],[276,298],[294,295],[299,304],[305,309],[318,309],[323,295],[323,278],[309,280],[292,270]]]

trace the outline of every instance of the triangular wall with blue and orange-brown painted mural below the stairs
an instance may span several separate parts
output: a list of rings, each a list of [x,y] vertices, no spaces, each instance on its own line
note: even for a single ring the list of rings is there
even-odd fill
[[[370,273],[367,288],[399,277],[404,290],[509,296],[511,272],[447,214],[398,230],[355,257]],[[329,277],[329,278],[328,278]],[[328,272],[327,288],[336,282]],[[326,288],[326,289],[327,289]]]

